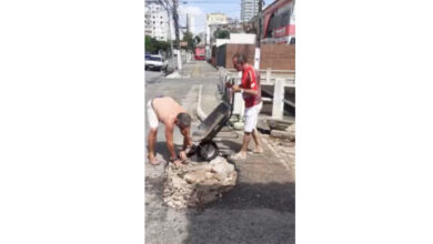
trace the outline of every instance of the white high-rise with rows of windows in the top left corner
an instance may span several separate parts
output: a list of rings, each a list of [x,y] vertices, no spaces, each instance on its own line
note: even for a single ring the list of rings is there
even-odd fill
[[[169,24],[164,7],[158,1],[145,1],[144,33],[158,41],[168,41],[170,39]]]

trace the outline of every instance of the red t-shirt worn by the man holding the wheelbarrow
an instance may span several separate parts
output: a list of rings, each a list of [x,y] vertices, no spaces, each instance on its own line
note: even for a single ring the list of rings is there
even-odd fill
[[[258,90],[256,95],[243,93],[243,100],[245,101],[245,108],[251,108],[259,104],[262,101],[262,91],[260,88],[260,73],[252,67],[248,65],[242,72],[242,83],[240,85],[243,89]]]

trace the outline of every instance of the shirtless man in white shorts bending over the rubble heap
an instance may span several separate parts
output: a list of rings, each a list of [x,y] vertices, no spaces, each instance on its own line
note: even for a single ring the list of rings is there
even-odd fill
[[[174,165],[182,165],[185,160],[185,151],[192,145],[190,136],[191,116],[187,111],[179,105],[172,98],[154,98],[148,102],[148,120],[150,131],[148,135],[148,156],[150,163],[159,164],[154,156],[154,144],[157,142],[158,124],[159,122],[165,125],[165,141],[170,152],[170,162]],[[183,135],[183,146],[180,153],[181,160],[178,159],[173,145],[173,129],[178,125]]]

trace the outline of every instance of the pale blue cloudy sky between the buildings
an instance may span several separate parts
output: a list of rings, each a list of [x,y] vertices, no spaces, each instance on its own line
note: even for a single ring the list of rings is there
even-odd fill
[[[264,1],[263,9],[273,2]],[[208,13],[222,12],[230,18],[241,18],[241,0],[190,0],[179,1],[179,21],[187,26],[187,13],[194,17],[194,33],[205,31],[205,19]]]

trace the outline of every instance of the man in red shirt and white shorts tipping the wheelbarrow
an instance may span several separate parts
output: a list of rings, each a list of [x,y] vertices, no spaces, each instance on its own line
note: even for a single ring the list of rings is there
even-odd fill
[[[254,152],[263,152],[259,133],[255,130],[255,126],[258,124],[258,116],[260,110],[262,109],[260,74],[258,70],[255,70],[251,64],[246,62],[246,58],[242,53],[236,53],[233,55],[233,65],[238,71],[242,71],[242,83],[240,85],[228,85],[233,89],[233,92],[242,93],[243,100],[245,101],[245,125],[241,151],[234,154],[232,159],[244,160],[246,159],[246,150],[248,145],[250,144],[251,136],[255,142]]]

